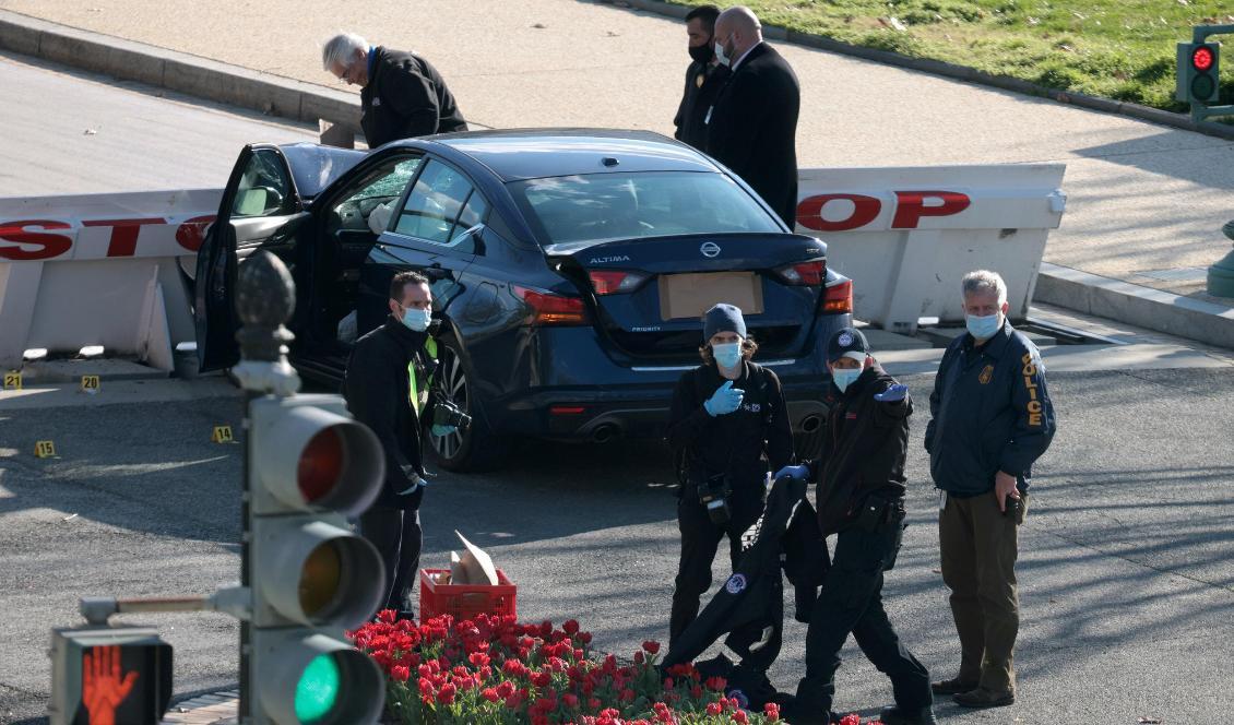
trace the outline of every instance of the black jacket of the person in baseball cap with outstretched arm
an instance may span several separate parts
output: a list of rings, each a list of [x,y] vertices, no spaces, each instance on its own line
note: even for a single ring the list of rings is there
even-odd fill
[[[913,401],[907,395],[895,402],[874,399],[892,385],[896,379],[874,364],[843,393],[830,386],[823,450],[806,464],[818,482],[818,528],[824,536],[847,529],[871,493],[887,501],[905,496]]]

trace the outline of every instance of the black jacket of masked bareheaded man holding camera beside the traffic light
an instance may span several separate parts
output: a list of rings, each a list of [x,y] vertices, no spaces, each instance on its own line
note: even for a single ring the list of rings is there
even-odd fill
[[[392,316],[385,324],[355,342],[347,361],[343,397],[355,419],[364,423],[385,453],[385,488],[376,506],[420,508],[424,487],[415,493],[399,496],[412,486],[408,472],[424,476],[422,429],[411,404],[407,365],[415,359],[416,369],[427,379],[436,365],[424,351],[427,333],[417,333]]]

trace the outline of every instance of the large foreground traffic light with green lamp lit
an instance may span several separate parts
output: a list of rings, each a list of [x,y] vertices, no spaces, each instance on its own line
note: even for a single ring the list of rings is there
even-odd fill
[[[374,723],[385,683],[343,630],[385,596],[378,551],[347,522],[381,491],[381,445],[342,398],[308,395],[254,398],[248,446],[253,723]]]

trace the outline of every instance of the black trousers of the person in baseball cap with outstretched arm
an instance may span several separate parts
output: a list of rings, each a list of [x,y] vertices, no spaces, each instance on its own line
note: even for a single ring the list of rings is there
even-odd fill
[[[896,636],[882,607],[884,572],[895,566],[902,536],[901,519],[895,518],[875,530],[850,526],[837,539],[832,568],[806,630],[806,677],[797,687],[797,709],[819,723],[827,723],[830,713],[840,647],[850,633],[879,672],[891,678],[897,707],[917,710],[934,702],[929,671]]]

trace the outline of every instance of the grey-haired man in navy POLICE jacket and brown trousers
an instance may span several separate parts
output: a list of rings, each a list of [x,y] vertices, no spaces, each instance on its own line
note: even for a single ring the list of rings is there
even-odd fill
[[[1007,321],[1003,279],[969,272],[961,293],[967,334],[943,355],[926,427],[943,581],[960,637],[959,672],[933,688],[964,707],[997,708],[1016,702],[1018,526],[1033,462],[1054,438],[1054,406],[1040,353]]]

